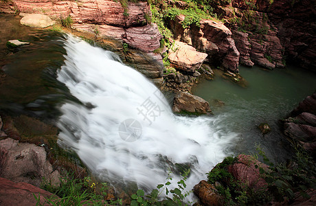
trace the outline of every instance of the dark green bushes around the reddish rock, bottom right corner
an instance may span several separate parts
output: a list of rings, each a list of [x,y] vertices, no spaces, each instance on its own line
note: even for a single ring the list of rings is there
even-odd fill
[[[236,180],[227,172],[227,166],[238,161],[236,157],[225,158],[207,174],[209,183],[217,185],[216,190],[224,198],[225,205],[264,205],[270,201],[283,202],[284,199],[291,203],[295,192],[309,198],[306,191],[316,188],[316,167],[305,150],[295,148],[296,153],[291,166],[284,163],[274,165],[260,147],[257,150],[264,163],[269,166],[269,169],[264,169],[260,165],[255,165],[262,179],[267,182],[267,186],[258,191]],[[254,160],[257,158],[258,155],[253,156]]]

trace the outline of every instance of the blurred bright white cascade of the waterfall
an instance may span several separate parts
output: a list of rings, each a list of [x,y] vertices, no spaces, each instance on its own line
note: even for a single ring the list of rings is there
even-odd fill
[[[227,156],[236,134],[221,126],[221,117],[173,115],[157,87],[115,54],[72,36],[65,49],[58,80],[90,106],[61,106],[59,143],[76,151],[98,178],[151,190],[166,182],[173,163],[183,163],[192,171],[186,182],[191,190]],[[170,174],[173,187],[176,173]]]

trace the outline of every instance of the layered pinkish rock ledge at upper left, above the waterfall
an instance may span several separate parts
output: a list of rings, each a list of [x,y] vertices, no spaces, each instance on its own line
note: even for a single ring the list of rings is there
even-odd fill
[[[160,47],[162,36],[157,25],[147,22],[151,15],[147,1],[138,1],[137,3],[129,1],[126,8],[122,7],[120,1],[110,0],[13,0],[12,3],[19,12],[32,13],[32,15],[45,14],[56,21],[70,16],[73,21],[72,28],[89,33],[93,39],[104,38],[102,44],[110,43],[105,39],[111,39],[109,47],[115,47],[114,50],[122,52],[124,43],[126,43],[129,49],[134,48],[145,53],[149,52],[148,54],[141,54],[137,51],[124,51],[124,54],[128,53],[126,55],[128,65],[135,67],[148,78],[154,78],[155,82],[158,79],[161,82],[162,58],[161,56],[157,57],[152,52]],[[23,19],[28,16],[30,14],[27,14]],[[114,41],[118,43],[114,43]],[[124,61],[125,56],[121,56],[121,58]],[[148,59],[144,60],[144,58]],[[137,62],[137,60],[139,61]],[[155,63],[153,64],[153,62]],[[142,68],[139,69],[139,67]]]

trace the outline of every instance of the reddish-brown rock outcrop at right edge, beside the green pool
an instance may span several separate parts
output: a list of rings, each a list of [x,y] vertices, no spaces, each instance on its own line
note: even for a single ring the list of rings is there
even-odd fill
[[[316,93],[305,98],[284,119],[284,134],[300,141],[306,150],[316,152]]]

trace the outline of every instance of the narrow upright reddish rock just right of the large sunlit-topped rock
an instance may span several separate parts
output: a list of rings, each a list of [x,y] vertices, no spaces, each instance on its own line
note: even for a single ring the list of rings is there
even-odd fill
[[[252,67],[254,63],[250,59],[249,53],[251,50],[250,48],[251,44],[249,43],[249,40],[248,40],[248,34],[245,32],[239,32],[239,31],[233,30],[232,38],[234,39],[235,45],[240,54],[239,63],[241,65]]]

